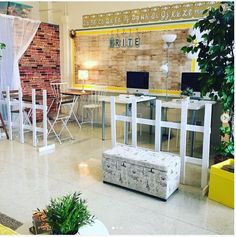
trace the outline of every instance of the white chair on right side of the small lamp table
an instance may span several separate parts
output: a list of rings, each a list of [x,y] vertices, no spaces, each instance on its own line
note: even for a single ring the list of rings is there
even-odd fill
[[[87,97],[87,102],[82,105],[82,124],[94,124],[94,115],[96,112],[98,113],[102,108],[102,104],[101,101],[99,101],[99,97],[104,96],[104,93],[104,89],[99,88],[99,90],[91,92],[91,95]],[[84,120],[85,118],[87,118],[87,120]]]

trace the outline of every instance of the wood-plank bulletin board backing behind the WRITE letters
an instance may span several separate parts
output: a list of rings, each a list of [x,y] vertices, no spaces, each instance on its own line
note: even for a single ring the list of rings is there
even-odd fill
[[[179,90],[181,72],[191,71],[191,60],[180,51],[186,45],[189,29],[139,32],[139,48],[109,48],[109,34],[79,35],[75,38],[76,83],[82,83],[77,78],[78,69],[86,69],[86,61],[93,61],[95,66],[89,69],[86,84],[126,87],[126,71],[148,71],[150,89],[165,89],[166,75],[160,68],[166,63],[167,52],[162,35],[172,33],[177,39],[169,49],[168,89]],[[124,36],[129,33],[120,31],[118,37]],[[137,33],[131,33],[132,38],[135,36]]]

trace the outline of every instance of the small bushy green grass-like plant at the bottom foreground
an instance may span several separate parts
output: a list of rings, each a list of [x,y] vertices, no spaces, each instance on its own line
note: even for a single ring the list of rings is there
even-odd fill
[[[46,208],[48,224],[53,234],[76,234],[81,226],[94,222],[86,201],[75,192],[63,197],[51,199]]]

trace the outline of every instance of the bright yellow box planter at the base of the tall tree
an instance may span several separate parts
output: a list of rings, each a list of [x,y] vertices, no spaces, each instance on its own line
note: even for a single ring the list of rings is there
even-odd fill
[[[222,170],[224,165],[234,165],[234,159],[211,166],[208,198],[234,208],[234,173]]]

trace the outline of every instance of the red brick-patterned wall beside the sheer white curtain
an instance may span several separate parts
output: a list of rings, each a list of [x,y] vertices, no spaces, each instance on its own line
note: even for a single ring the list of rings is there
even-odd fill
[[[19,63],[24,94],[31,89],[46,89],[51,94],[50,82],[60,81],[59,26],[41,23],[29,48]]]

